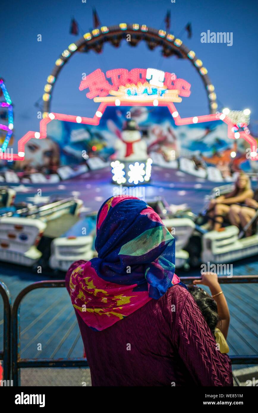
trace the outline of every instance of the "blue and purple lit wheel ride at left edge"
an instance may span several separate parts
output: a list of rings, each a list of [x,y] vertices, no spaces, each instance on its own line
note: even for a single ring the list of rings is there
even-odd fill
[[[14,128],[13,105],[4,79],[0,76],[0,151],[5,152]]]

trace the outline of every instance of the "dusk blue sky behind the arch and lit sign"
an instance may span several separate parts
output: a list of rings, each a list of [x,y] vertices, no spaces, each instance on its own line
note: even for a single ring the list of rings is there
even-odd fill
[[[96,7],[102,25],[139,23],[165,30],[165,15],[171,10],[170,33],[178,36],[191,22],[193,37],[187,33],[181,39],[208,69],[219,107],[251,109],[253,132],[258,131],[257,107],[257,2],[176,0],[56,0],[2,1],[0,75],[14,103],[16,140],[29,130],[39,130],[34,104],[43,95],[47,76],[55,60],[68,45],[93,28],[92,7]],[[78,21],[80,35],[69,34],[71,17]],[[201,43],[201,32],[232,32],[233,45]],[[42,35],[42,42],[37,35]],[[191,83],[191,96],[176,104],[183,116],[208,114],[208,101],[196,70],[189,61],[161,56],[157,47],[150,51],[145,42],[130,47],[122,41],[116,49],[105,44],[103,52],[76,53],[62,69],[52,97],[51,110],[80,116],[93,116],[98,104],[79,91],[82,73],[100,68],[106,72],[115,68],[153,67],[174,72]]]

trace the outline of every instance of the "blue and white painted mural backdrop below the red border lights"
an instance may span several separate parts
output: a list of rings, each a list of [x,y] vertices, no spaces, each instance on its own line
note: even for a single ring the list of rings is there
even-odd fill
[[[90,156],[98,154],[106,160],[114,153],[117,132],[122,130],[127,119],[139,124],[148,151],[162,153],[165,161],[201,156],[210,164],[217,163],[217,158],[230,163],[230,154],[237,148],[239,166],[251,170],[252,162],[246,159],[248,145],[240,140],[236,147],[236,141],[227,137],[227,125],[223,121],[176,126],[167,107],[107,107],[98,126],[54,120],[47,125],[48,145],[45,140],[38,140],[37,144],[43,145],[42,150],[51,156],[59,157],[60,165],[77,165],[83,161],[82,151],[85,150]],[[25,151],[27,161],[28,149]],[[35,161],[34,153],[32,162],[33,159]]]

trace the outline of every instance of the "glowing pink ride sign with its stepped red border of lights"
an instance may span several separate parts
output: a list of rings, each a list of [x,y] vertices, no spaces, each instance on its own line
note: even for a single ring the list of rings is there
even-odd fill
[[[111,80],[111,83],[108,82],[108,79]],[[174,73],[171,74],[157,69],[132,69],[131,71],[127,69],[114,69],[107,71],[106,76],[100,69],[97,69],[87,75],[79,86],[79,90],[89,90],[88,93],[86,93],[88,98],[93,99],[94,102],[100,102],[93,118],[53,112],[46,113],[40,121],[40,131],[27,132],[18,141],[18,153],[12,154],[12,159],[10,158],[10,160],[22,161],[25,155],[26,143],[30,139],[46,138],[47,124],[53,120],[97,126],[106,107],[134,104],[136,106],[166,106],[177,126],[221,120],[227,124],[228,138],[243,138],[246,140],[251,149],[250,159],[258,160],[256,139],[253,138],[250,131],[248,131],[246,122],[244,122],[245,130],[240,126],[241,122],[235,122],[234,116],[231,116],[234,111],[228,112],[227,114],[217,112],[216,114],[191,116],[187,118],[180,117],[179,112],[174,106],[174,102],[179,103],[182,101],[181,97],[188,97],[191,93],[190,88],[190,83],[184,79],[177,78]],[[211,91],[211,93],[213,92]]]

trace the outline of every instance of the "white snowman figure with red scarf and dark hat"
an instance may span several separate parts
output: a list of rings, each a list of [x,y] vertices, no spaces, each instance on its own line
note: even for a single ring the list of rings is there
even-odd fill
[[[120,139],[115,142],[115,150],[115,158],[121,161],[142,161],[148,158],[147,145],[141,139],[141,132],[136,121],[125,122]]]

